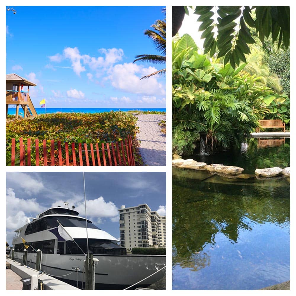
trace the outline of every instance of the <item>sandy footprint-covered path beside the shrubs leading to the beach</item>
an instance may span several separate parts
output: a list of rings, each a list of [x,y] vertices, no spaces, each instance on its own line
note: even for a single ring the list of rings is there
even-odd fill
[[[140,114],[136,115],[137,126],[140,132],[137,139],[140,143],[140,153],[144,165],[165,165],[165,143],[166,137],[158,125],[160,120],[165,120],[166,115]]]

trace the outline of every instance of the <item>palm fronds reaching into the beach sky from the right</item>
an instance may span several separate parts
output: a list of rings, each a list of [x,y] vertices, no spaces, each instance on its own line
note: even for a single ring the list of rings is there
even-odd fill
[[[165,54],[166,54],[166,22],[165,20],[157,20],[155,23],[151,26],[154,30],[148,29],[145,30],[144,35],[148,36],[152,39],[153,43],[155,44],[155,47],[157,50],[160,51],[162,55],[157,54],[140,54],[136,56],[136,59],[133,61],[141,61],[141,62],[150,62],[153,64],[165,64]],[[143,78],[148,78],[153,75],[157,74],[164,74],[165,68],[162,70],[158,70],[154,73],[151,73],[149,75],[146,75]]]

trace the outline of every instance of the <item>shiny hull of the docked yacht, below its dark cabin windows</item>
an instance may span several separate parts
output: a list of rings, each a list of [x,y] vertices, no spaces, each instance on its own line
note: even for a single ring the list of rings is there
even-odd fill
[[[15,252],[18,261],[22,260],[22,256],[23,253]],[[27,257],[27,265],[35,268],[36,254],[30,253]],[[165,275],[163,267],[166,263],[163,255],[94,255],[94,258],[99,260],[95,267],[96,289],[125,289],[150,276],[132,289],[147,287]],[[78,281],[81,289],[85,282],[84,260],[84,255],[43,254],[41,270],[76,287]],[[72,273],[76,267],[80,271]],[[151,276],[161,268],[161,271]]]

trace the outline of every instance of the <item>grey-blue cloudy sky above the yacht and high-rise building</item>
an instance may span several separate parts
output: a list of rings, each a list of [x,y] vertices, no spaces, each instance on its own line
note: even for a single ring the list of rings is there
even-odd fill
[[[121,205],[147,203],[166,215],[165,172],[86,172],[87,217],[99,228],[119,238]],[[28,217],[52,206],[75,206],[85,217],[82,172],[7,172],[6,240],[11,245],[14,230]]]

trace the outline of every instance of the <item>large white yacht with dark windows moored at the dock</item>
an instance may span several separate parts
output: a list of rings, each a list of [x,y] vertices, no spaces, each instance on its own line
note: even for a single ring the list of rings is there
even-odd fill
[[[78,281],[78,287],[84,288],[83,261],[86,257],[83,252],[87,253],[86,218],[79,217],[78,214],[73,209],[58,206],[38,214],[36,218],[28,218],[27,224],[15,230],[15,238],[12,240],[15,249],[14,258],[18,261],[23,258],[23,238],[29,245],[27,249],[29,267],[35,268],[35,250],[40,249],[42,250],[41,271],[73,286],[77,286]],[[75,242],[58,239],[51,232],[59,226],[58,222]],[[93,252],[94,258],[99,259],[95,267],[95,289],[124,289],[154,274],[166,264],[165,255],[127,254],[126,249],[117,244],[118,239],[99,229],[89,220],[87,220],[87,229],[89,250]],[[77,267],[78,273],[76,271],[71,273]],[[64,276],[66,274],[69,275]],[[133,286],[132,289],[147,287],[161,279],[164,274],[165,268]]]

